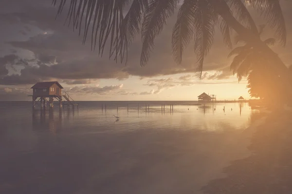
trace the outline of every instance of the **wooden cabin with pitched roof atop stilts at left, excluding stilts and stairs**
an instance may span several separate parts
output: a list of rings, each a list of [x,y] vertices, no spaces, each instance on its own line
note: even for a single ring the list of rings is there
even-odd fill
[[[63,87],[57,81],[37,82],[33,87],[33,97],[62,96]]]

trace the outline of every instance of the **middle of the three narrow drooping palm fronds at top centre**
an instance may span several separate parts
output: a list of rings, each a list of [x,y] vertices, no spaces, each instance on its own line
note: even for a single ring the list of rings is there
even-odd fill
[[[184,0],[172,31],[172,53],[177,64],[182,63],[183,50],[193,38],[195,0]]]

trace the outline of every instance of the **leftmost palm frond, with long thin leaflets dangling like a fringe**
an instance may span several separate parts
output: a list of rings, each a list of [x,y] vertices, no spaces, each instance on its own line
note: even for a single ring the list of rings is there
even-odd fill
[[[59,1],[57,15],[61,14],[68,0],[53,0],[56,5]],[[110,39],[110,53],[116,51],[116,55],[124,55],[121,49],[120,37],[123,37],[122,22],[124,20],[123,11],[129,0],[70,0],[70,7],[67,14],[68,25],[73,29],[79,29],[79,36],[83,31],[83,44],[87,40],[90,27],[91,49],[95,50],[98,44],[99,55],[103,54],[104,47]],[[69,21],[68,21],[69,19]],[[71,21],[73,20],[73,24]],[[98,38],[97,38],[98,36]]]

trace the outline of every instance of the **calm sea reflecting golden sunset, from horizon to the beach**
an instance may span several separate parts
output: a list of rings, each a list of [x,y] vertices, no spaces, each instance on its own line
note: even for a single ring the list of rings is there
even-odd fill
[[[84,101],[78,109],[33,109],[32,102],[0,102],[0,193],[200,194],[224,176],[222,168],[250,154],[244,130],[259,110],[196,104]]]

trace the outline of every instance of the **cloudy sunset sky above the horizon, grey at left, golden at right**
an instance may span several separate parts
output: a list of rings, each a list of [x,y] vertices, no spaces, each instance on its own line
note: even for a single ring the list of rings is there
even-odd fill
[[[280,2],[287,44],[272,49],[290,66],[292,1]],[[250,10],[256,24],[265,24]],[[224,47],[219,30],[199,79],[191,44],[181,65],[172,57],[171,34],[177,12],[155,39],[145,67],[140,66],[141,35],[128,48],[127,64],[116,63],[107,54],[100,57],[91,51],[90,39],[83,45],[78,32],[64,25],[67,12],[55,20],[56,12],[51,0],[0,0],[0,100],[31,100],[27,96],[38,81],[58,81],[74,100],[197,100],[203,92],[217,95],[219,100],[250,98],[246,78],[238,83],[230,71],[230,49]],[[263,38],[271,36],[273,31],[266,27]]]

